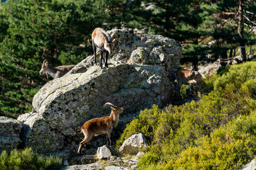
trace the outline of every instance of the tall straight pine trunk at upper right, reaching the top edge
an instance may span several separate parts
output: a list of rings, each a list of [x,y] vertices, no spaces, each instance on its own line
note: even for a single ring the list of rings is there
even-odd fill
[[[244,18],[243,18],[243,13],[244,13],[244,1],[245,0],[239,0],[239,22],[238,22],[238,34],[240,36],[239,40],[239,50],[240,50],[240,56],[242,57],[242,61],[246,61],[246,54],[245,54],[245,40],[243,36],[244,32]]]

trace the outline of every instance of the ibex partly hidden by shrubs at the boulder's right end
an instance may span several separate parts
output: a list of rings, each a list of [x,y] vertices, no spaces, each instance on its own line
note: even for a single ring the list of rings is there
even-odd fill
[[[190,92],[192,92],[193,86],[200,84],[202,82],[201,79],[203,78],[199,72],[193,71],[192,69],[180,69],[176,73],[175,77],[178,83],[176,88],[178,97],[180,97],[182,84],[189,85]]]

